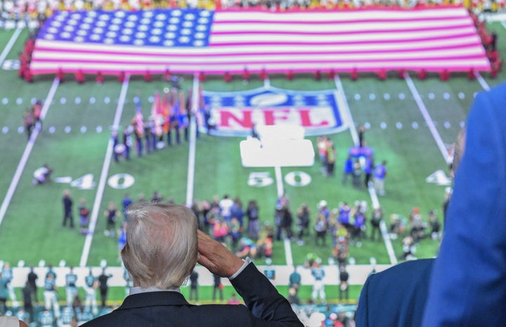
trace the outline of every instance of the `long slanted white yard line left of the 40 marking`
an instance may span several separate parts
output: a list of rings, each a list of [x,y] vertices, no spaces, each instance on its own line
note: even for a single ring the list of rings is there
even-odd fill
[[[53,97],[56,93],[56,89],[58,88],[58,84],[60,84],[60,81],[58,79],[54,79],[53,84],[51,84],[51,88],[49,89],[48,95],[46,96],[46,100],[44,101],[44,106],[42,107],[42,110],[41,110],[41,119],[43,119],[43,120],[44,120],[44,117],[46,116],[46,113],[48,112],[49,105],[51,105],[51,101],[53,101]],[[32,136],[30,137],[30,140],[28,140],[27,146],[25,147],[25,151],[23,152],[23,154],[21,156],[21,160],[18,163],[18,168],[16,168],[13,179],[11,181],[11,185],[9,185],[9,188],[7,190],[7,194],[4,198],[4,201],[1,204],[0,224],[1,224],[2,220],[4,220],[9,203],[11,203],[11,200],[14,195],[16,187],[18,187],[18,182],[21,178],[22,172],[25,170],[25,166],[28,161],[28,157],[30,156],[30,153],[32,152],[32,148],[35,144],[35,141],[37,140],[37,136],[39,136],[39,128],[34,128],[32,131]]]

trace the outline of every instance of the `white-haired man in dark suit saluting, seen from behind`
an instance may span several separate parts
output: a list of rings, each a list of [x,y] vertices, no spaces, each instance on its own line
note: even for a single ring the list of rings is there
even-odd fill
[[[302,326],[289,302],[249,259],[197,230],[185,206],[136,203],[127,212],[124,266],[134,281],[123,304],[84,326]],[[227,277],[242,305],[190,305],[179,292],[195,265]]]

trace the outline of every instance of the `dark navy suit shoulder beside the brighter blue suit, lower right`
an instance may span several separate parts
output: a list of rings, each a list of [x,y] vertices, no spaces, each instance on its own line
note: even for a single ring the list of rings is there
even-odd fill
[[[356,326],[422,326],[433,263],[434,259],[406,261],[371,274],[358,299]]]

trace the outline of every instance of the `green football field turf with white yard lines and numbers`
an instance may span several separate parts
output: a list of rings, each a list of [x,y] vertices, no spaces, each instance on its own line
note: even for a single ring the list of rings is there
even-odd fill
[[[506,53],[501,42],[506,39],[505,27],[499,23],[490,27],[498,32],[500,52]],[[344,159],[348,148],[356,142],[358,124],[368,127],[365,139],[375,149],[376,161],[388,162],[387,194],[377,199],[387,227],[392,214],[408,216],[413,207],[420,208],[424,220],[429,210],[435,209],[443,222],[441,206],[446,186],[427,182],[427,178],[440,170],[448,175],[448,147],[465,124],[474,94],[500,84],[506,77],[505,72],[496,79],[484,73],[472,81],[466,74],[453,75],[449,81],[441,81],[436,74],[420,81],[413,73],[407,79],[391,74],[387,81],[379,81],[372,74],[357,81],[351,81],[347,74],[336,80],[324,75],[320,81],[309,74],[297,75],[293,81],[284,76],[270,76],[271,86],[278,88],[335,90],[339,110],[349,111],[346,119],[350,124],[345,131],[329,135],[337,148],[335,177],[323,176],[316,154],[313,166],[283,167],[277,178],[274,168],[242,166],[239,142],[243,137],[201,134],[194,144],[183,141],[142,158],[132,151],[130,161],[115,163],[110,156],[111,126],[129,124],[135,114],[136,96],[148,116],[155,91],[162,91],[167,82],[156,76],[150,83],[133,77],[124,84],[114,78],[96,84],[89,76],[85,84],[79,85],[73,76],[66,76],[63,83],[53,76],[37,76],[34,83],[27,84],[13,69],[27,36],[27,30],[0,31],[0,48],[4,49],[0,57],[0,260],[12,265],[20,260],[26,265],[37,265],[40,260],[58,265],[65,260],[67,265],[98,266],[106,260],[109,266],[119,266],[117,241],[104,234],[103,212],[110,201],[120,207],[126,192],[135,200],[138,194],[150,198],[158,191],[164,199],[174,199],[176,203],[211,200],[223,194],[240,196],[243,203],[257,199],[261,220],[271,223],[280,187],[290,197],[294,212],[301,203],[308,203],[314,214],[317,203],[323,199],[330,208],[357,200],[367,201],[372,208],[376,199],[367,189],[355,189],[341,182]],[[263,86],[258,77],[252,76],[247,84],[239,76],[231,83],[209,77],[202,88],[249,90]],[[184,76],[183,89],[193,87],[193,83],[193,76]],[[22,114],[35,99],[45,100],[44,126],[41,133],[34,135],[35,142],[27,144]],[[315,145],[316,137],[309,139]],[[33,172],[44,163],[54,169],[54,181],[34,186]],[[248,183],[255,176],[273,182],[262,187]],[[299,181],[300,176],[309,176],[309,182],[292,181]],[[65,182],[56,182],[56,178]],[[96,221],[93,235],[86,237],[79,234],[78,228],[62,227],[64,189],[72,192],[76,224],[77,203],[81,198],[86,200],[91,218]],[[273,263],[302,264],[307,253],[315,253],[327,262],[332,248],[316,248],[313,237],[312,232],[302,246],[292,242],[290,258],[285,244],[275,243]],[[375,258],[378,264],[391,264],[402,254],[401,238],[391,240],[394,253],[387,250],[388,243],[366,239],[361,247],[350,246],[349,257],[361,265],[368,265],[370,258]],[[417,258],[433,257],[438,245],[439,241],[422,240]]]

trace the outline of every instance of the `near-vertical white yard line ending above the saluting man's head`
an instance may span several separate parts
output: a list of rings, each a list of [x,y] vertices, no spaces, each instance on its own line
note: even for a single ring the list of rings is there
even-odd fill
[[[186,178],[186,205],[193,203],[193,184],[195,182],[195,142],[197,140],[197,121],[195,114],[198,112],[199,80],[198,75],[193,76],[192,107],[190,119],[190,146],[188,149],[188,177]]]

